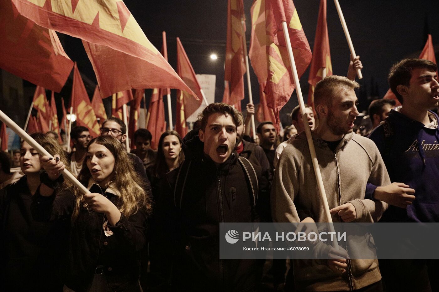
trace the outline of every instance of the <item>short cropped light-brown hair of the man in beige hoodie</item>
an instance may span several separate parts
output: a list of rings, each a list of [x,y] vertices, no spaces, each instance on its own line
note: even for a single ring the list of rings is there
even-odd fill
[[[314,88],[314,104],[316,106],[321,103],[331,105],[332,98],[338,93],[340,87],[343,89],[357,89],[360,88],[360,84],[344,76],[326,76],[317,82]]]

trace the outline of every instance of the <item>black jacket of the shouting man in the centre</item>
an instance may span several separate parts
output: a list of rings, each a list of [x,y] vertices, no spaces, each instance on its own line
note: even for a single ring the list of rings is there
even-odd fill
[[[162,231],[153,240],[161,242],[162,260],[173,262],[173,290],[251,290],[256,282],[254,260],[219,259],[219,223],[252,222],[256,217],[237,153],[217,168],[204,156],[198,136],[187,141],[185,149],[191,151],[192,163],[184,192],[176,194],[176,204],[173,190],[180,166],[166,175],[167,190],[155,210]]]

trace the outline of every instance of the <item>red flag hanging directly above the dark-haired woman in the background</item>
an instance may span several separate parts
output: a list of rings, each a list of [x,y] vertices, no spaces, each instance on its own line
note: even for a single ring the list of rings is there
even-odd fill
[[[152,91],[151,99],[149,101],[147,120],[147,130],[151,132],[152,135],[151,148],[157,150],[160,135],[166,131],[165,105],[163,103],[163,96],[160,95],[160,90],[158,89],[154,89]]]

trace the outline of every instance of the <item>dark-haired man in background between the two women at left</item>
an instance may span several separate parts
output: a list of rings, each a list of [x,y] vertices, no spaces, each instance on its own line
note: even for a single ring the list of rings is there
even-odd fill
[[[77,177],[79,171],[82,169],[86,157],[87,145],[92,137],[88,129],[83,126],[73,127],[71,135],[75,151],[70,154],[70,168],[72,169],[72,174]]]

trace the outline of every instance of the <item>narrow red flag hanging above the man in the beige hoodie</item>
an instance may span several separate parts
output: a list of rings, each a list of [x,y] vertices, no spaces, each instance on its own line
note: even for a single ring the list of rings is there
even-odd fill
[[[331,52],[326,22],[326,0],[320,0],[319,17],[317,18],[316,37],[314,39],[313,58],[309,66],[308,105],[314,109],[314,87],[326,76],[332,75]]]

